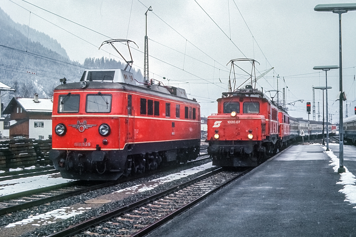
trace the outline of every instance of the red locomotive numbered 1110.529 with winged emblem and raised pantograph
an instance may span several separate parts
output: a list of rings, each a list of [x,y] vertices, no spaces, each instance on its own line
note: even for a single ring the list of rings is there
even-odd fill
[[[132,41],[103,44],[116,50],[114,42]],[[125,70],[84,71],[80,82],[61,79],[54,89],[49,157],[63,178],[116,180],[198,157],[197,101],[182,88],[138,82],[126,71],[132,62]]]

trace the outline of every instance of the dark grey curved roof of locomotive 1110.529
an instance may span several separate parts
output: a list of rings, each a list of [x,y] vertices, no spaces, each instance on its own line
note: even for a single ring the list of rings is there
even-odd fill
[[[123,90],[123,91],[134,91],[134,92],[140,92],[140,93],[145,93],[149,94],[152,96],[160,96],[164,98],[169,98],[169,99],[174,99],[174,100],[179,100],[179,101],[189,101],[189,102],[194,102],[197,103],[196,100],[193,99],[188,99],[184,98],[182,96],[176,96],[172,95],[169,93],[166,87],[160,86],[160,85],[150,85],[150,88],[147,88],[147,86],[136,86],[136,85],[130,85],[130,84],[125,84],[125,83],[112,83],[112,82],[107,82],[107,81],[87,81],[88,86],[85,88],[85,90]],[[80,88],[79,86],[80,82],[72,82],[72,83],[66,83],[62,85],[58,85],[54,91],[57,90],[84,90]],[[177,88],[180,90],[184,90],[181,88]],[[185,91],[184,91],[185,92]]]

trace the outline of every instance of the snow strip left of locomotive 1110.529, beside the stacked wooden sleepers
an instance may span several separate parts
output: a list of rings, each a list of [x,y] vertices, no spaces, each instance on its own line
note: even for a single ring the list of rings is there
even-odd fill
[[[58,176],[59,173],[44,174],[33,177],[11,179],[0,182],[0,196],[13,193],[20,193],[27,190],[48,187],[56,184],[67,183],[72,179],[64,179],[62,177],[53,178],[53,175]]]

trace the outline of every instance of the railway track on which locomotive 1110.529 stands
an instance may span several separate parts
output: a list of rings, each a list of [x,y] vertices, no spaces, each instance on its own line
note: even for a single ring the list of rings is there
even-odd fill
[[[206,156],[207,153],[200,154],[199,156]],[[189,163],[198,162],[209,157],[192,160]],[[163,169],[164,170],[164,169]],[[52,201],[61,200],[70,196],[79,195],[89,191],[93,191],[100,188],[110,187],[112,185],[132,181],[133,179],[142,178],[148,175],[155,174],[162,171],[152,171],[149,173],[138,174],[133,177],[122,178],[117,181],[110,182],[90,182],[89,184],[83,181],[73,181],[58,185],[53,185],[45,188],[28,190],[25,192],[10,194],[6,196],[0,196],[0,215],[11,213],[18,210],[31,208],[33,206],[50,203]],[[93,184],[94,183],[94,184]]]

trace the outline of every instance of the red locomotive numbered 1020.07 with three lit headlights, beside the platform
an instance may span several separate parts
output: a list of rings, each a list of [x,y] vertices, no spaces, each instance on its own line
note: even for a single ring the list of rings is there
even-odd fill
[[[288,114],[250,85],[218,99],[218,113],[208,117],[208,152],[216,166],[257,166],[289,133]]]

